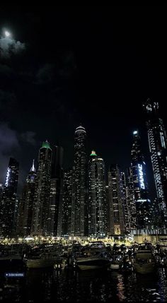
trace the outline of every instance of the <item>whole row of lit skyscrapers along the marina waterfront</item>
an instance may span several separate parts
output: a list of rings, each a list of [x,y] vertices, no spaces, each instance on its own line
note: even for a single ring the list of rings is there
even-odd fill
[[[166,130],[159,117],[159,103],[147,99],[143,107],[156,189],[153,198],[149,194],[139,131],[132,132],[131,161],[123,172],[117,163],[110,163],[106,169],[95,150],[88,156],[88,133],[80,124],[74,131],[71,169],[63,169],[62,146],[43,141],[37,172],[33,160],[20,198],[19,162],[10,158],[1,186],[0,234],[125,237],[135,230],[166,227]]]

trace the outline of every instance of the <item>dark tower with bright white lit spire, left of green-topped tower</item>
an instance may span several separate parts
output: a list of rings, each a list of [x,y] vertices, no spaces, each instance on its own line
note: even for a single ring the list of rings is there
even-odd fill
[[[16,233],[19,236],[28,236],[31,232],[33,207],[35,203],[35,186],[37,182],[37,174],[33,165],[28,173],[28,177],[23,187],[21,201],[18,206],[18,219]]]

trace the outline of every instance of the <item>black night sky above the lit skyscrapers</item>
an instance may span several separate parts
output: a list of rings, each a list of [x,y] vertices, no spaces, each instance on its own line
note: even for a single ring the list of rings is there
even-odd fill
[[[45,139],[70,167],[81,122],[88,153],[122,170],[139,129],[152,189],[142,102],[159,102],[166,126],[166,6],[0,6],[0,31],[0,182],[13,156],[21,189]]]

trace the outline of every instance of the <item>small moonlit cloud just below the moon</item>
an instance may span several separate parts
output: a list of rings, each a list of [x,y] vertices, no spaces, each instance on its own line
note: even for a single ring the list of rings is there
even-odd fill
[[[25,49],[25,43],[16,41],[11,37],[0,37],[0,54],[8,59],[12,54],[19,54]]]

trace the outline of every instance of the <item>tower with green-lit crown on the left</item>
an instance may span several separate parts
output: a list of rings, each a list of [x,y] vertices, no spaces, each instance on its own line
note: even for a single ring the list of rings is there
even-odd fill
[[[39,150],[37,186],[33,208],[32,234],[47,235],[47,221],[50,205],[50,174],[52,149],[45,141]]]

